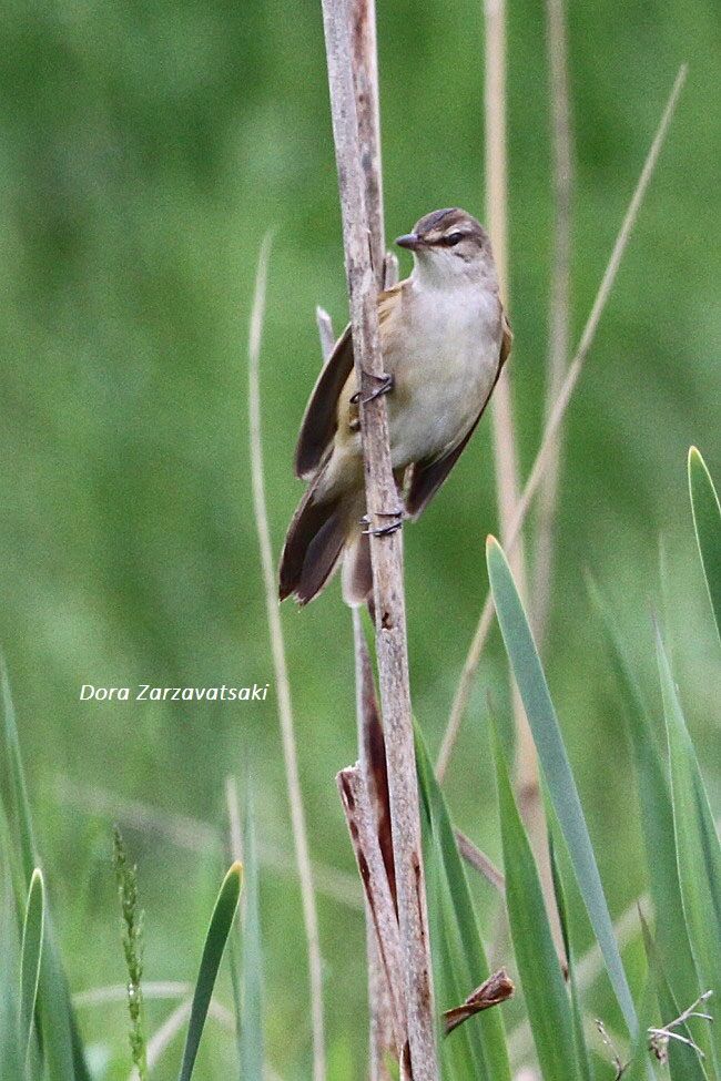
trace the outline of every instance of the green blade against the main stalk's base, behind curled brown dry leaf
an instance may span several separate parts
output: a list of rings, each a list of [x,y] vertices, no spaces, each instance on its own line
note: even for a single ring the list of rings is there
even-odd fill
[[[446,800],[417,726],[415,732],[426,876],[430,876],[429,880],[434,881],[435,875],[434,890],[428,891],[429,908],[434,907],[436,895],[440,898],[435,905],[435,919],[443,927],[443,934],[438,941],[436,931],[434,941],[431,927],[431,948],[434,951],[441,951],[441,973],[445,973],[447,992],[454,997],[446,1001],[438,998],[437,1007],[441,1011],[459,1006],[488,978],[490,971],[478,934],[466,870],[458,854]],[[450,1046],[459,1040],[468,1041],[469,1053],[473,1055],[475,1071],[470,1077],[478,1078],[480,1081],[483,1079],[508,1081],[510,1067],[499,1007],[486,1010],[466,1021],[451,1032],[445,1042]],[[466,1073],[466,1077],[468,1075]],[[458,1081],[465,1081],[463,1073],[458,1075]]]

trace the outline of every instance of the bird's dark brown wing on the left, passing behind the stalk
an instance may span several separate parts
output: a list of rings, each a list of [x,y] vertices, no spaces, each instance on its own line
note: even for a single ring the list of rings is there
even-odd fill
[[[378,294],[378,323],[383,325],[400,297],[403,283]],[[351,325],[336,341],[313,388],[295,448],[295,476],[307,480],[317,470],[337,428],[338,396],[353,370]]]

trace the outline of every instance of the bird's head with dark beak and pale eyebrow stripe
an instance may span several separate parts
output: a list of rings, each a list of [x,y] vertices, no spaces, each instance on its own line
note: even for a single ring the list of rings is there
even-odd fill
[[[414,273],[424,284],[448,288],[473,281],[498,288],[488,233],[457,206],[426,214],[396,244],[413,252]]]

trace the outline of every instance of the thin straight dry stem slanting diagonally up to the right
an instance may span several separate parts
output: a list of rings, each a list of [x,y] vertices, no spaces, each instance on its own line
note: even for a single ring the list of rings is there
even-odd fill
[[[546,468],[549,461],[550,448],[556,439],[556,434],[560,427],[560,424],[566,415],[569,402],[571,400],[576,384],[578,383],[579,376],[583,369],[583,364],[588,351],[593,343],[596,336],[596,330],[598,329],[598,324],[600,322],[601,315],[603,314],[603,308],[608,302],[611,288],[613,287],[613,282],[616,281],[616,275],[618,268],[623,258],[623,253],[626,252],[627,244],[633,231],[636,224],[636,218],[640,210],[641,203],[646,195],[649,182],[653,174],[653,170],[661,153],[661,147],[666,140],[673,112],[686,80],[687,65],[682,64],[679,68],[679,72],[676,77],[673,88],[667,101],[663,114],[659,122],[659,126],[653,136],[653,142],[649,149],[646,161],[643,163],[643,169],[641,170],[641,175],[639,176],[638,183],[631,201],[629,203],[626,216],[621,224],[621,227],[616,237],[613,244],[613,249],[611,252],[610,258],[606,266],[601,284],[599,285],[598,293],[593,300],[593,306],[591,308],[590,315],[583,327],[583,333],[581,335],[578,349],[576,350],[576,356],[571,361],[569,369],[563,379],[563,385],[560,392],[554,404],[546,429],[544,431],[544,438],[541,445],[536,455],[534,465],[531,467],[528,480],[524,488],[522,496],[519,500],[518,507],[516,509],[516,514],[514,518],[512,527],[509,531],[509,537],[506,542],[507,551],[510,552],[518,541],[521,528],[526,521],[526,516],[528,509],[532,502],[532,499],[538,490],[540,481],[544,477]],[[439,779],[443,779],[444,774],[448,767],[448,762],[450,761],[450,755],[453,753],[456,738],[460,728],[461,721],[466,713],[468,706],[468,698],[470,696],[470,690],[473,681],[478,671],[478,663],[480,661],[480,654],[483,653],[484,645],[486,644],[486,639],[488,636],[488,631],[490,630],[490,624],[492,620],[492,596],[490,592],[486,596],[486,602],[481,609],[478,624],[476,626],[476,632],[474,639],[470,643],[468,654],[464,664],[464,669],[458,683],[458,689],[456,691],[456,696],[451,706],[450,715],[448,718],[448,724],[444,735],[443,744],[436,763],[436,773]]]

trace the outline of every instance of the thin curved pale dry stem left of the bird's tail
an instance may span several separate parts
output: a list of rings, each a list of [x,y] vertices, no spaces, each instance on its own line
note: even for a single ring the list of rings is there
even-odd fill
[[[261,392],[258,366],[261,356],[261,339],[263,332],[263,315],[265,310],[265,287],[267,266],[271,252],[271,238],[266,236],[258,257],[255,295],[251,314],[248,334],[248,420],[251,439],[251,477],[253,485],[253,507],[257,528],[261,564],[263,569],[263,584],[265,587],[265,609],[273,652],[273,669],[278,700],[278,720],[283,742],[283,757],[285,761],[285,779],[288,789],[291,807],[291,824],[293,829],[293,845],[295,860],[301,883],[301,899],[303,905],[303,920],[308,950],[308,976],[311,985],[311,1024],[313,1030],[313,1079],[325,1079],[325,1033],[323,1019],[323,967],[321,961],[321,940],[318,934],[318,916],[315,906],[313,887],[313,870],[308,848],[301,776],[298,772],[297,749],[295,742],[295,724],[293,721],[293,705],[291,701],[291,683],[285,661],[285,642],[283,626],[278,611],[275,569],[271,548],[271,529],[268,526],[267,506],[265,500],[265,478],[263,468],[263,443],[261,439]]]

